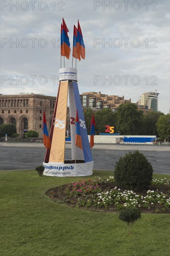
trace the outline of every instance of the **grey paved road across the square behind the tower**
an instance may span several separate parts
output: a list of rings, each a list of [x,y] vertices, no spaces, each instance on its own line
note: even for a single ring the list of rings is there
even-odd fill
[[[92,149],[94,169],[114,170],[120,156],[139,150],[154,168],[154,173],[170,174],[169,146],[155,145],[95,145]],[[0,170],[34,169],[44,159],[42,143],[1,142]],[[65,159],[71,159],[71,145],[65,146]]]

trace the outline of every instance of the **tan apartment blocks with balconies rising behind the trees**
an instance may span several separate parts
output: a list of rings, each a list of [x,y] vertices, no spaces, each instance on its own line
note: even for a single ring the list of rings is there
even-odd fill
[[[101,94],[101,92],[86,92],[80,94],[83,108],[92,108],[99,110],[102,108],[111,108],[117,111],[120,104],[131,102],[131,99],[124,100],[124,96]]]

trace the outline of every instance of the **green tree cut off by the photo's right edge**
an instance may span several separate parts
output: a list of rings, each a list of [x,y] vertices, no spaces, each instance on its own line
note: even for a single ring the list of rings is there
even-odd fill
[[[170,114],[160,115],[156,125],[159,138],[168,141],[170,137]]]

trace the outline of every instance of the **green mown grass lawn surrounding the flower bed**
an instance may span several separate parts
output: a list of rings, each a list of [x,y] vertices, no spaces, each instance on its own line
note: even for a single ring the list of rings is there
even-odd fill
[[[85,179],[109,175],[113,172],[94,171]],[[0,172],[0,178],[2,256],[170,255],[168,214],[142,214],[129,236],[117,213],[75,209],[45,195],[47,189],[80,177],[39,177],[30,170]]]

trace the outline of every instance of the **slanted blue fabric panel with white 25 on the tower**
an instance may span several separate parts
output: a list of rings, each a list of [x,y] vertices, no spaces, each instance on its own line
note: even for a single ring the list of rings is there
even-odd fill
[[[72,84],[73,84],[76,108],[78,111],[78,117],[79,117],[79,122],[80,122],[80,134],[81,134],[85,162],[92,162],[93,161],[92,152],[90,149],[90,143],[89,143],[89,139],[88,139],[88,135],[87,135],[87,129],[85,127],[85,118],[84,118],[83,109],[81,106],[81,100],[80,100],[80,95],[79,95],[79,91],[78,91],[78,84],[77,84],[77,82],[74,82],[74,81],[72,82]]]

